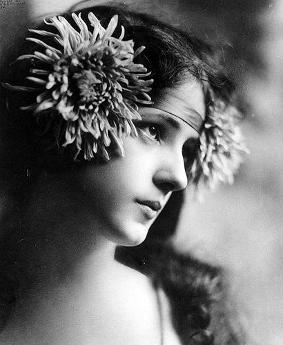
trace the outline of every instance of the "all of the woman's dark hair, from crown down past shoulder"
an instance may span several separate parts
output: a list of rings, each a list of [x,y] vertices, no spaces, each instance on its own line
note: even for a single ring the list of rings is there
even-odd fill
[[[142,63],[151,72],[147,79],[153,79],[150,86],[153,91],[175,88],[188,81],[190,76],[202,85],[206,114],[217,100],[227,106],[231,103],[233,87],[219,63],[219,55],[207,43],[147,14],[131,12],[119,6],[95,6],[79,12],[84,21],[87,21],[88,12],[95,13],[104,27],[118,14],[119,26],[124,26],[126,32],[124,39],[133,39],[137,48],[146,46],[135,61]],[[64,17],[75,26],[70,14],[64,14]],[[39,29],[46,30],[46,24]],[[119,32],[116,35],[119,37]],[[48,43],[48,39],[46,42]],[[34,50],[35,43],[28,41],[20,48],[19,55],[30,54]],[[12,85],[30,85],[29,81],[25,81],[29,70],[30,61],[17,61],[13,64],[7,81]],[[24,210],[33,181],[38,172],[61,172],[72,169],[77,164],[73,161],[68,146],[63,155],[58,155],[57,147],[45,150],[50,133],[35,135],[37,124],[32,113],[19,109],[19,106],[30,105],[34,101],[32,97],[23,95],[23,92],[6,91],[6,94],[8,111],[5,110],[6,98],[1,99],[0,180],[2,189],[11,197],[12,202],[3,209],[1,220],[1,228],[4,230],[0,246],[6,246],[5,250],[0,250],[3,318],[8,316],[10,305],[16,300],[18,284],[17,269],[13,266],[15,248],[9,247],[13,242],[9,237],[13,233],[16,239],[15,234],[26,226]],[[14,101],[15,97],[17,101]],[[137,248],[117,248],[117,259],[138,270],[144,270],[153,279],[155,287],[164,288],[173,308],[174,326],[183,344],[210,344],[211,324],[217,324],[217,320],[221,323],[221,329],[215,335],[215,344],[240,344],[237,332],[233,331],[227,319],[224,320],[226,306],[218,301],[219,295],[222,296],[225,290],[222,270],[193,257],[178,255],[168,245],[168,239],[175,232],[182,203],[183,193],[173,193],[166,208],[150,228],[144,244]],[[15,220],[17,217],[19,219]],[[221,307],[217,309],[219,304]],[[212,317],[215,317],[216,322],[211,320]]]

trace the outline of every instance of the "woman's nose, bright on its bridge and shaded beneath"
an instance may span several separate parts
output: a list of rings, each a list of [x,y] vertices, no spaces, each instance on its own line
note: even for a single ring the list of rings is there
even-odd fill
[[[176,192],[186,188],[188,177],[182,152],[180,154],[168,152],[165,155],[164,161],[161,162],[153,176],[153,182],[165,193]]]

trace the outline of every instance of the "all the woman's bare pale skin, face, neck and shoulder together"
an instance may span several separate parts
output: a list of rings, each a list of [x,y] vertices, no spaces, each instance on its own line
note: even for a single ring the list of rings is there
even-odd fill
[[[172,107],[204,117],[201,86],[188,82],[173,90]],[[32,286],[0,344],[161,344],[155,290],[114,253],[117,244],[142,243],[171,193],[186,188],[183,149],[198,133],[186,112],[181,119],[154,107],[139,113],[139,137],[124,139],[125,157],[39,179],[19,258]],[[179,344],[173,328],[168,340]]]

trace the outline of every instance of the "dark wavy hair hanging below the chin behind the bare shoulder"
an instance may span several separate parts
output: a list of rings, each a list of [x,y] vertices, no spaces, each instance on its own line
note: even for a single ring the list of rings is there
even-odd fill
[[[170,197],[135,247],[118,247],[116,259],[151,277],[172,310],[173,326],[184,345],[244,345],[246,335],[230,293],[228,271],[179,253],[170,239],[184,202],[184,190]]]

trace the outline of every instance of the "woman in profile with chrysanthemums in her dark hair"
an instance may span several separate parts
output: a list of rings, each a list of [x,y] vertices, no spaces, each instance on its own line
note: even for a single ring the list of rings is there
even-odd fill
[[[3,84],[0,344],[240,344],[222,271],[168,240],[188,181],[244,151],[211,48],[107,6],[31,31]]]

